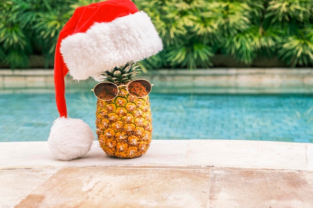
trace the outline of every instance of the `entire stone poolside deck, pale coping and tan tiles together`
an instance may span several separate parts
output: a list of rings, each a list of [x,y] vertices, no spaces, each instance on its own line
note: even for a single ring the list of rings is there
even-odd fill
[[[135,159],[54,160],[46,142],[0,143],[1,208],[311,208],[313,144],[153,140]]]

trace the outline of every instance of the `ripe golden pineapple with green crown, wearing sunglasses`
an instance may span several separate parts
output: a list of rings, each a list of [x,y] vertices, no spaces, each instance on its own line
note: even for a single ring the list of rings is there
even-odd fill
[[[126,85],[138,73],[136,63],[127,63],[103,72],[103,81],[117,86]],[[146,153],[152,136],[152,117],[149,97],[140,83],[134,83],[131,96],[125,86],[118,87],[118,95],[109,101],[96,103],[96,134],[105,154],[117,158],[136,158]],[[109,93],[109,92],[106,92]],[[111,92],[111,93],[117,93]],[[106,99],[104,99],[106,100]]]

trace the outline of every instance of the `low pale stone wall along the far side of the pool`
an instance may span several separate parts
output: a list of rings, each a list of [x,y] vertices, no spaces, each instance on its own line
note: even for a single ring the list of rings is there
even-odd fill
[[[154,84],[157,93],[305,93],[313,92],[311,68],[211,68],[189,70],[154,70],[141,73]],[[88,79],[73,81],[65,77],[66,88],[92,88],[96,82]],[[37,89],[52,91],[53,70],[0,70],[0,91],[12,93]]]

